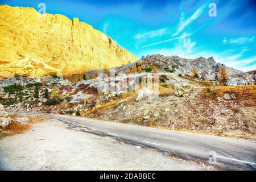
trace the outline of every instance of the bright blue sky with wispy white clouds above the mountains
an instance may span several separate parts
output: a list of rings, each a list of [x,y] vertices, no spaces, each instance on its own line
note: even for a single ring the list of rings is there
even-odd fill
[[[134,53],[184,58],[210,57],[242,71],[256,69],[255,1],[152,0],[13,0],[10,6],[30,6],[46,13],[77,17]],[[217,16],[210,17],[209,4]]]

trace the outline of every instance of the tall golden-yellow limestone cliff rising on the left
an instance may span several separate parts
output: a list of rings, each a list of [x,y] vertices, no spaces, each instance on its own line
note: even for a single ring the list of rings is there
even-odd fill
[[[69,76],[133,63],[130,52],[78,18],[0,6],[0,77]]]

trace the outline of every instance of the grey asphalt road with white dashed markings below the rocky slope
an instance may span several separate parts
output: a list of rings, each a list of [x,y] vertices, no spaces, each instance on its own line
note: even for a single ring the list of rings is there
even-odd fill
[[[154,147],[183,159],[211,162],[219,169],[256,169],[256,142],[152,127],[127,125],[97,119],[55,115],[71,125]],[[152,156],[154,157],[154,156]]]

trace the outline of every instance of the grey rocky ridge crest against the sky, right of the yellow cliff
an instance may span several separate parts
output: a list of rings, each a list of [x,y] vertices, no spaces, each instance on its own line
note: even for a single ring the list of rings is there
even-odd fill
[[[127,69],[133,68],[135,65],[152,68],[156,72],[165,71],[194,76],[193,69],[196,70],[199,78],[203,80],[216,80],[220,73],[220,68],[224,67],[228,76],[233,76],[242,73],[241,71],[233,68],[226,67],[223,64],[217,63],[213,57],[208,59],[199,57],[197,59],[184,59],[179,56],[162,56],[162,55],[149,55],[133,64],[123,65],[116,68],[116,72],[127,72]]]

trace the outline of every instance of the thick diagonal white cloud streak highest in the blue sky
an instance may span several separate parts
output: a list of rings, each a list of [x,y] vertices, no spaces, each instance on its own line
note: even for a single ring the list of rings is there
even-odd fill
[[[189,24],[191,24],[194,20],[199,18],[201,14],[203,14],[203,10],[206,5],[200,6],[199,9],[195,11],[195,13],[192,14],[188,19],[184,18],[184,13],[181,13],[180,15],[180,22],[179,26],[177,27],[177,31],[172,34],[172,36],[177,36],[184,30],[185,27],[187,27]]]

